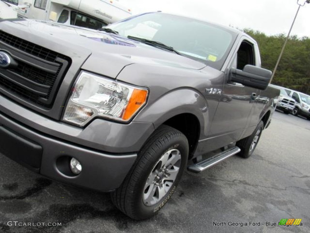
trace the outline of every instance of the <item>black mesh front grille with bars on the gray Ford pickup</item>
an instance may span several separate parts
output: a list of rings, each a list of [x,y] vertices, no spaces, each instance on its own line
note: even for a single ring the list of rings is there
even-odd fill
[[[0,70],[0,89],[31,104],[51,108],[71,59],[0,31],[0,49],[17,62]]]

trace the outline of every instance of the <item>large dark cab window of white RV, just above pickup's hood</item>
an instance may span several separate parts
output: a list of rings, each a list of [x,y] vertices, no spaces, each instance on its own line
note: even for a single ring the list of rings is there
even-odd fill
[[[70,24],[95,30],[107,25],[102,21],[99,21],[93,17],[81,14],[76,11],[71,11]]]

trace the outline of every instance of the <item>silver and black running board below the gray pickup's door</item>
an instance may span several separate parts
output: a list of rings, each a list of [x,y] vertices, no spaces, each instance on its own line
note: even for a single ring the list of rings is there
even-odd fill
[[[206,160],[203,160],[201,162],[192,164],[188,166],[187,170],[195,173],[199,173],[201,171],[206,170],[207,168],[213,166],[214,164],[217,164],[218,162],[221,162],[225,158],[228,158],[232,155],[235,155],[239,153],[241,150],[239,147],[235,146],[232,148],[229,148],[228,150],[225,150],[215,156],[212,156],[210,158],[207,158]]]

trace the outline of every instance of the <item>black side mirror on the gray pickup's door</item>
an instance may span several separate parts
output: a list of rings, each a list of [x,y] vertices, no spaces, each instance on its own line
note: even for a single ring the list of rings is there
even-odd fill
[[[243,70],[231,69],[230,80],[242,85],[265,90],[270,82],[272,72],[258,66],[246,65]]]

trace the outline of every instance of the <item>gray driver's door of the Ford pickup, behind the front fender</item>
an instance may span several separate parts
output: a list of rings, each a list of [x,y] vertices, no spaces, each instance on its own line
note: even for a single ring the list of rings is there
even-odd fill
[[[245,65],[256,65],[260,59],[255,56],[255,52],[254,42],[247,37],[242,38],[226,70],[229,71],[232,67],[242,70]],[[220,102],[212,120],[208,142],[205,144],[208,151],[240,139],[245,129],[251,125],[256,95],[259,94],[258,89],[229,82],[228,72],[225,76]]]

